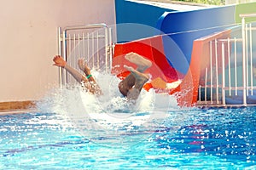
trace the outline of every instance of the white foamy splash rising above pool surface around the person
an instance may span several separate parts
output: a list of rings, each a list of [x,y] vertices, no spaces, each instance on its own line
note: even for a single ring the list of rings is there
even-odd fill
[[[103,95],[96,97],[86,92],[79,83],[62,88],[52,88],[44,99],[38,102],[39,111],[67,114],[73,112],[114,113],[169,111],[177,109],[177,100],[168,94],[156,94],[153,89],[142,90],[136,105],[132,105],[119,93],[119,78],[106,73],[92,71]]]

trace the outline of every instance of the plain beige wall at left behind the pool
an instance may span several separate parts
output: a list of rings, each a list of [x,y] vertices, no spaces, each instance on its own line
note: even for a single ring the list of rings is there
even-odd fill
[[[58,84],[57,27],[115,23],[114,0],[0,0],[0,102],[40,99]]]

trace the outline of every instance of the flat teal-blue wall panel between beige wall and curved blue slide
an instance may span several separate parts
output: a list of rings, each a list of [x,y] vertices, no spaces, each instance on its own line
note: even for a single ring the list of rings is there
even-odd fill
[[[145,37],[159,35],[157,22],[171,8],[160,8],[143,3],[115,0],[117,41],[129,42]]]

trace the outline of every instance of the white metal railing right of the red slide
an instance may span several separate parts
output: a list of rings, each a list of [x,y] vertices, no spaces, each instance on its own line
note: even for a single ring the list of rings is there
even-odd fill
[[[256,23],[246,23],[256,14],[240,17],[241,26],[231,33],[233,37],[209,42],[210,65],[201,76],[198,105],[256,105]]]

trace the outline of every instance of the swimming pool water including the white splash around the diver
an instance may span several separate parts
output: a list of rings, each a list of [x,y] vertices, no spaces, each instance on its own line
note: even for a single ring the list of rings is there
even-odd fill
[[[256,107],[181,109],[142,92],[132,108],[108,90],[54,89],[38,111],[0,116],[0,169],[256,168]]]

